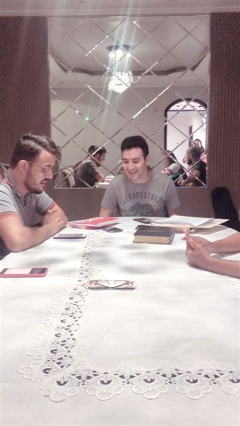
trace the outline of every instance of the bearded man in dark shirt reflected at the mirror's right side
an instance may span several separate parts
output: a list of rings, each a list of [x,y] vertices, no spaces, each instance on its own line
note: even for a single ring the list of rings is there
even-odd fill
[[[187,164],[190,165],[189,175],[186,179],[180,178],[177,183],[179,186],[203,186],[206,184],[206,163],[201,160],[201,149],[197,146],[191,146],[186,152]],[[198,178],[199,180],[195,179]],[[201,181],[201,182],[199,182]]]

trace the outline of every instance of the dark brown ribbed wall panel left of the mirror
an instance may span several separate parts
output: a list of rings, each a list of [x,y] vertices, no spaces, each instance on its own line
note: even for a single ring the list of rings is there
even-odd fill
[[[24,133],[50,135],[48,25],[45,17],[0,17],[0,161]]]

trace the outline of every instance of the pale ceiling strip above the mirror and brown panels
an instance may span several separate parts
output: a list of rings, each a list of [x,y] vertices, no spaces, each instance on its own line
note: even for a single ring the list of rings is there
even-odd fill
[[[239,0],[1,0],[0,15],[74,16],[239,11]]]

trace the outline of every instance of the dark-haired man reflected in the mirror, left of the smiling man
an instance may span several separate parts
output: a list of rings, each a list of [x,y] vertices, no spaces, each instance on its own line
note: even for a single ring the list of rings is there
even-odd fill
[[[106,149],[91,145],[88,152],[90,155],[77,168],[74,188],[89,188],[97,182],[104,181],[104,175],[99,171],[99,167],[105,160]]]

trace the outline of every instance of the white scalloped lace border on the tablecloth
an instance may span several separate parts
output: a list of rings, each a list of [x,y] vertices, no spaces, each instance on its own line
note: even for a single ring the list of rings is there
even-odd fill
[[[28,352],[35,361],[19,369],[23,377],[41,382],[42,395],[55,402],[76,395],[81,388],[99,400],[122,394],[126,387],[147,399],[155,399],[167,393],[170,386],[190,399],[202,398],[214,387],[240,398],[239,369],[218,368],[214,362],[202,362],[200,368],[193,371],[183,370],[170,361],[160,362],[155,369],[126,362],[106,372],[97,370],[95,364],[86,358],[73,359],[74,332],[83,327],[80,321],[84,308],[92,303],[89,296],[86,301],[89,292],[87,280],[90,271],[93,271],[91,253],[97,239],[97,234],[89,234],[81,258],[79,278],[71,270],[66,274],[71,290],[69,292],[68,288],[64,288],[62,295],[55,299],[58,305],[49,309],[53,316],[43,321],[48,329],[36,335],[43,345]],[[72,258],[78,256],[74,252],[69,255]],[[95,272],[99,271],[95,269]],[[81,344],[87,345],[87,341],[82,339]]]

